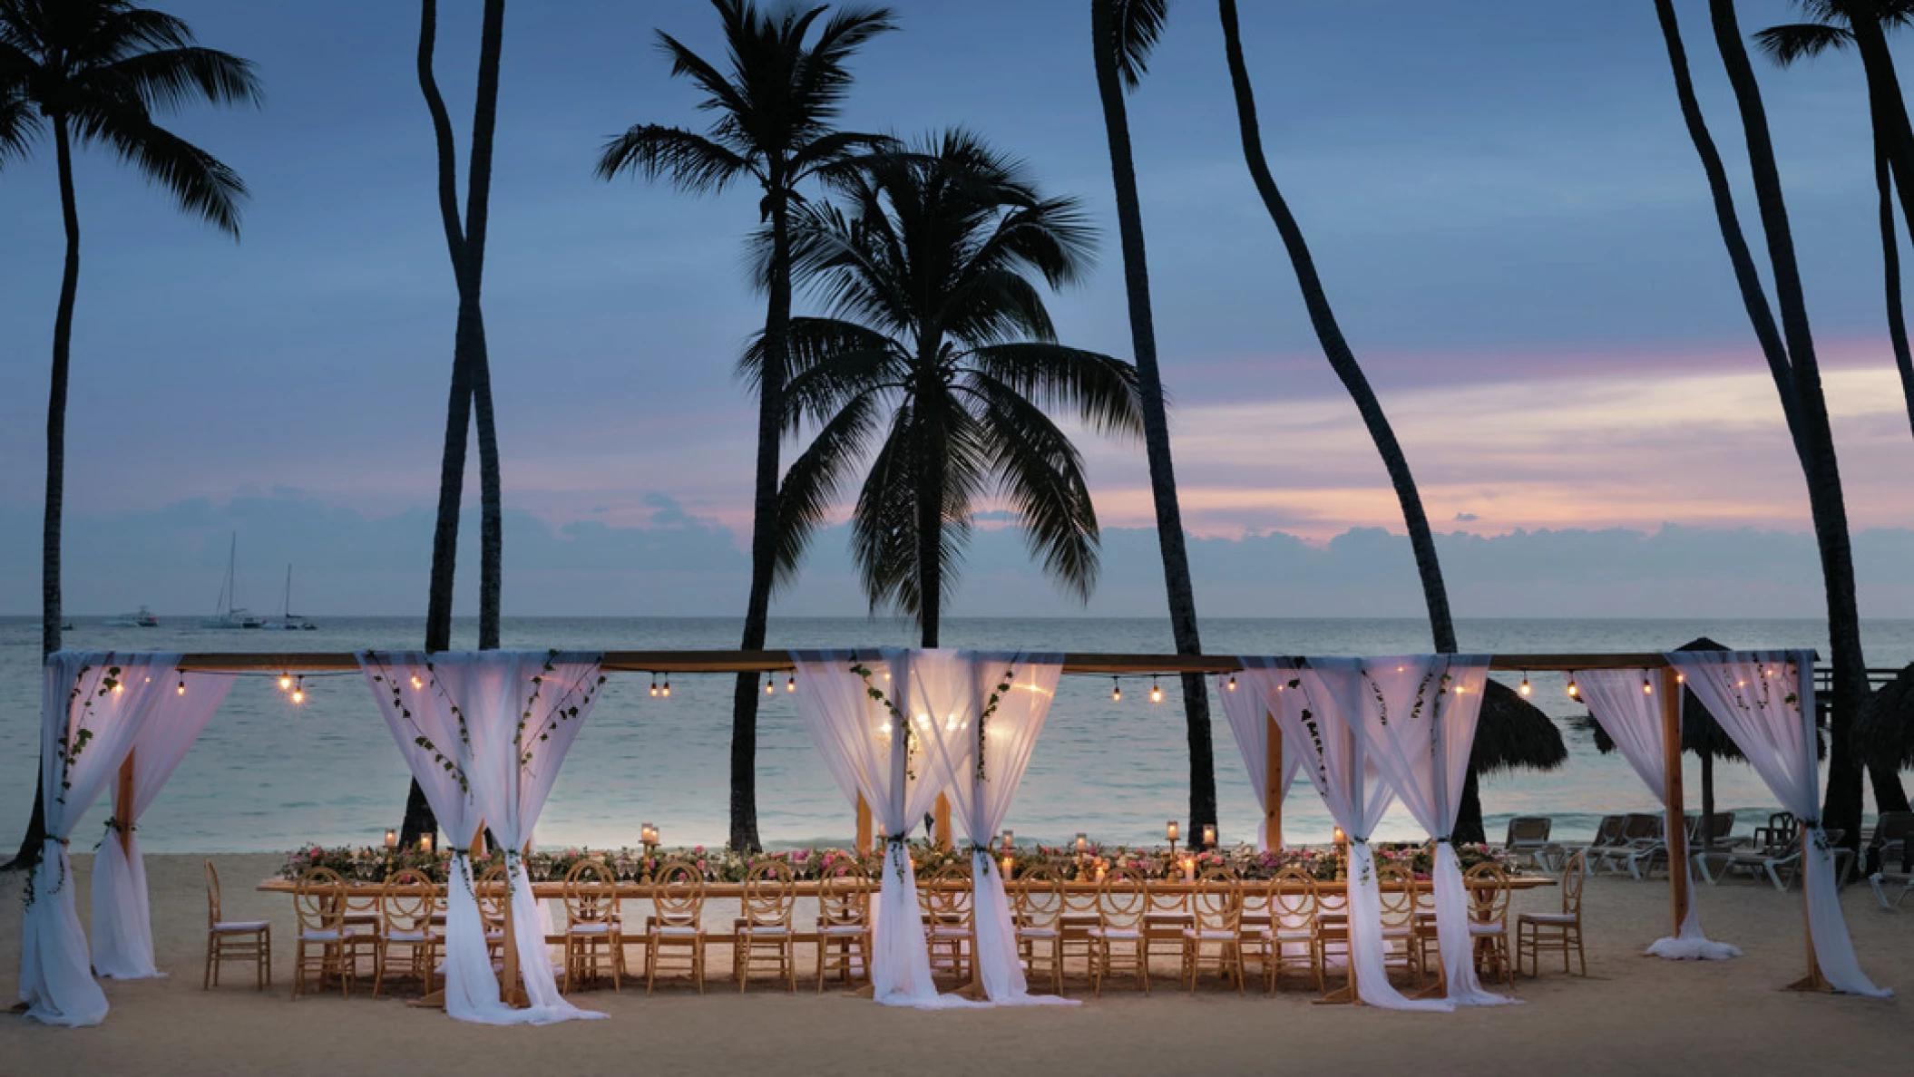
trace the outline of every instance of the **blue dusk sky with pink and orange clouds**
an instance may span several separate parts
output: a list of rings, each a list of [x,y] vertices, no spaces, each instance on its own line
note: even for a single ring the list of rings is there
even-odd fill
[[[440,8],[438,78],[463,153],[480,6]],[[1705,4],[1677,8],[1715,138],[1746,176]],[[256,595],[295,562],[308,612],[423,612],[456,295],[417,8],[167,10],[258,65],[260,109],[168,119],[251,201],[234,243],[109,155],[78,159],[67,606],[205,612],[237,532]],[[844,126],[963,124],[1045,191],[1083,199],[1099,268],[1051,312],[1064,342],[1127,358],[1085,4],[896,10],[900,33],[854,63]],[[1790,17],[1784,2],[1740,10],[1749,31]],[[1458,612],[1813,616],[1799,467],[1648,0],[1244,4],[1242,21],[1271,166],[1451,574],[1474,583]],[[720,48],[693,0],[507,8],[484,293],[507,614],[743,604],[754,415],[731,362],[764,318],[741,253],[756,193],[591,174],[634,122],[704,121],[655,29]],[[1862,610],[1901,616],[1914,438],[1881,329],[1858,63],[1757,67]],[[1173,4],[1129,109],[1200,599],[1229,616],[1414,614],[1399,507],[1244,170],[1213,6]],[[1738,197],[1753,228],[1746,184]],[[0,612],[38,608],[61,243],[50,153],[0,172]],[[1160,610],[1143,450],[1079,444],[1106,545],[1089,610]],[[842,545],[842,530],[821,536],[775,612],[861,610]],[[980,532],[970,572],[957,612],[1081,608],[1034,582],[1011,530]]]

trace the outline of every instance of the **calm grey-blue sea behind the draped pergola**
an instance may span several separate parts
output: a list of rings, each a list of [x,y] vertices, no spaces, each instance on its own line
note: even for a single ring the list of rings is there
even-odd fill
[[[320,631],[266,633],[189,627],[197,618],[163,618],[163,627],[103,627],[80,618],[67,633],[75,648],[124,650],[356,650],[406,648],[423,639],[410,618],[325,618]],[[457,626],[454,647],[475,645],[475,626]],[[505,647],[521,648],[727,648],[727,618],[511,618]],[[888,620],[773,620],[771,647],[907,645],[909,626]],[[1826,654],[1820,622],[1462,622],[1468,650],[1659,650],[1698,635],[1730,647],[1814,647]],[[1039,650],[1173,650],[1156,620],[953,620],[947,647]],[[1418,620],[1210,620],[1204,648],[1215,654],[1403,654],[1428,648]],[[1914,622],[1866,626],[1870,666],[1914,660]],[[1552,815],[1558,836],[1587,836],[1598,815],[1654,809],[1619,759],[1598,756],[1566,719],[1581,714],[1558,675],[1535,673],[1535,700],[1569,742],[1569,763],[1552,775],[1508,775],[1483,784],[1483,813],[1497,836],[1510,815]],[[1125,681],[1110,702],[1106,677],[1066,677],[1043,738],[1011,809],[1009,826],[1032,840],[1068,840],[1087,830],[1106,842],[1160,842],[1164,821],[1189,813],[1189,754],[1179,683],[1148,702],[1146,679]],[[272,679],[243,679],[172,780],[140,821],[147,851],[270,851],[304,842],[375,844],[396,824],[406,767],[358,673],[306,677],[306,704],[291,706]],[[15,842],[33,805],[38,750],[38,622],[0,620],[0,844]],[[1259,811],[1229,725],[1215,712],[1217,796],[1223,840],[1254,840]],[[668,846],[720,846],[727,834],[731,677],[679,675],[672,698],[655,700],[643,675],[612,675],[574,744],[538,824],[538,842],[635,846],[639,823],[655,823]],[[812,748],[783,689],[760,710],[758,805],[766,844],[844,844],[852,811]],[[1688,788],[1698,788],[1688,763]],[[1694,794],[1700,796],[1700,794]],[[1772,796],[1744,765],[1717,767],[1723,809],[1746,828],[1772,811]],[[1872,805],[1870,805],[1872,809]],[[77,847],[101,832],[96,805],[75,832]],[[1307,786],[1284,807],[1290,842],[1328,840],[1330,821]],[[1382,838],[1414,840],[1420,830],[1395,809]]]

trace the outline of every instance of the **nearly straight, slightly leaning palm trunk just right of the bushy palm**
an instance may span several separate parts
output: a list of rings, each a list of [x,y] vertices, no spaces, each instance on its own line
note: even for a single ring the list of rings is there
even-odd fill
[[[1129,149],[1129,117],[1116,75],[1116,31],[1110,6],[1091,4],[1091,44],[1097,57],[1097,94],[1110,142],[1110,176],[1116,184],[1116,224],[1124,243],[1124,291],[1129,298],[1129,346],[1137,360],[1137,396],[1143,406],[1143,448],[1150,461],[1150,497],[1156,503],[1156,545],[1164,555],[1164,593],[1169,597],[1169,633],[1177,654],[1202,654],[1196,631],[1196,589],[1183,543],[1183,511],[1169,459],[1169,415],[1164,377],[1156,365],[1156,319],[1150,312],[1150,266],[1143,249],[1143,209],[1137,199],[1137,165]],[[1189,834],[1215,824],[1215,748],[1210,736],[1210,687],[1202,673],[1183,673],[1183,717],[1191,748]]]

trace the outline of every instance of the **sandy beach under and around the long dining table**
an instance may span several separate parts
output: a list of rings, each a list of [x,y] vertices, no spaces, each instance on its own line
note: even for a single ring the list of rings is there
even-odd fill
[[[0,1073],[155,1073],[274,1077],[352,1073],[1769,1073],[1914,1071],[1914,1022],[1903,1000],[1799,995],[1801,899],[1769,886],[1702,888],[1711,937],[1746,956],[1667,962],[1640,951],[1667,928],[1667,884],[1600,878],[1587,895],[1589,978],[1545,968],[1518,978],[1522,1006],[1457,1014],[1391,1014],[1315,1006],[1290,989],[1275,999],[1210,985],[1148,997],[1127,989],[1078,1008],[921,1014],[836,991],[785,995],[729,979],[710,993],[676,987],[590,991],[574,1000],[612,1020],[555,1027],[477,1027],[396,999],[289,999],[291,901],[253,884],[272,855],[214,857],[228,918],[274,922],[276,981],[201,991],[205,890],[199,857],[147,857],[157,958],[167,979],[115,983],[107,1022],[57,1029],[0,1018]],[[80,916],[90,857],[75,857]],[[0,993],[17,995],[21,880],[0,880]],[[1547,909],[1556,891],[1518,895]],[[1881,912],[1868,888],[1843,899],[1866,972],[1914,991],[1914,903]],[[810,960],[804,947],[802,960]],[[727,960],[714,956],[714,972]],[[1087,991],[1074,985],[1072,995]],[[1353,1069],[1351,1069],[1353,1066]]]

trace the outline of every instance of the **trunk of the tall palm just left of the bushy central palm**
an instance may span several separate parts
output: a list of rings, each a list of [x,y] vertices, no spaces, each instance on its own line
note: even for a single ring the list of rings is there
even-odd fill
[[[773,182],[775,186],[775,182]],[[750,593],[745,650],[762,650],[777,572],[777,480],[785,434],[785,377],[790,367],[790,209],[771,195],[771,266],[766,281],[764,369],[758,375],[758,465],[750,515]],[[731,691],[731,847],[754,853],[758,840],[758,675],[739,673]]]

